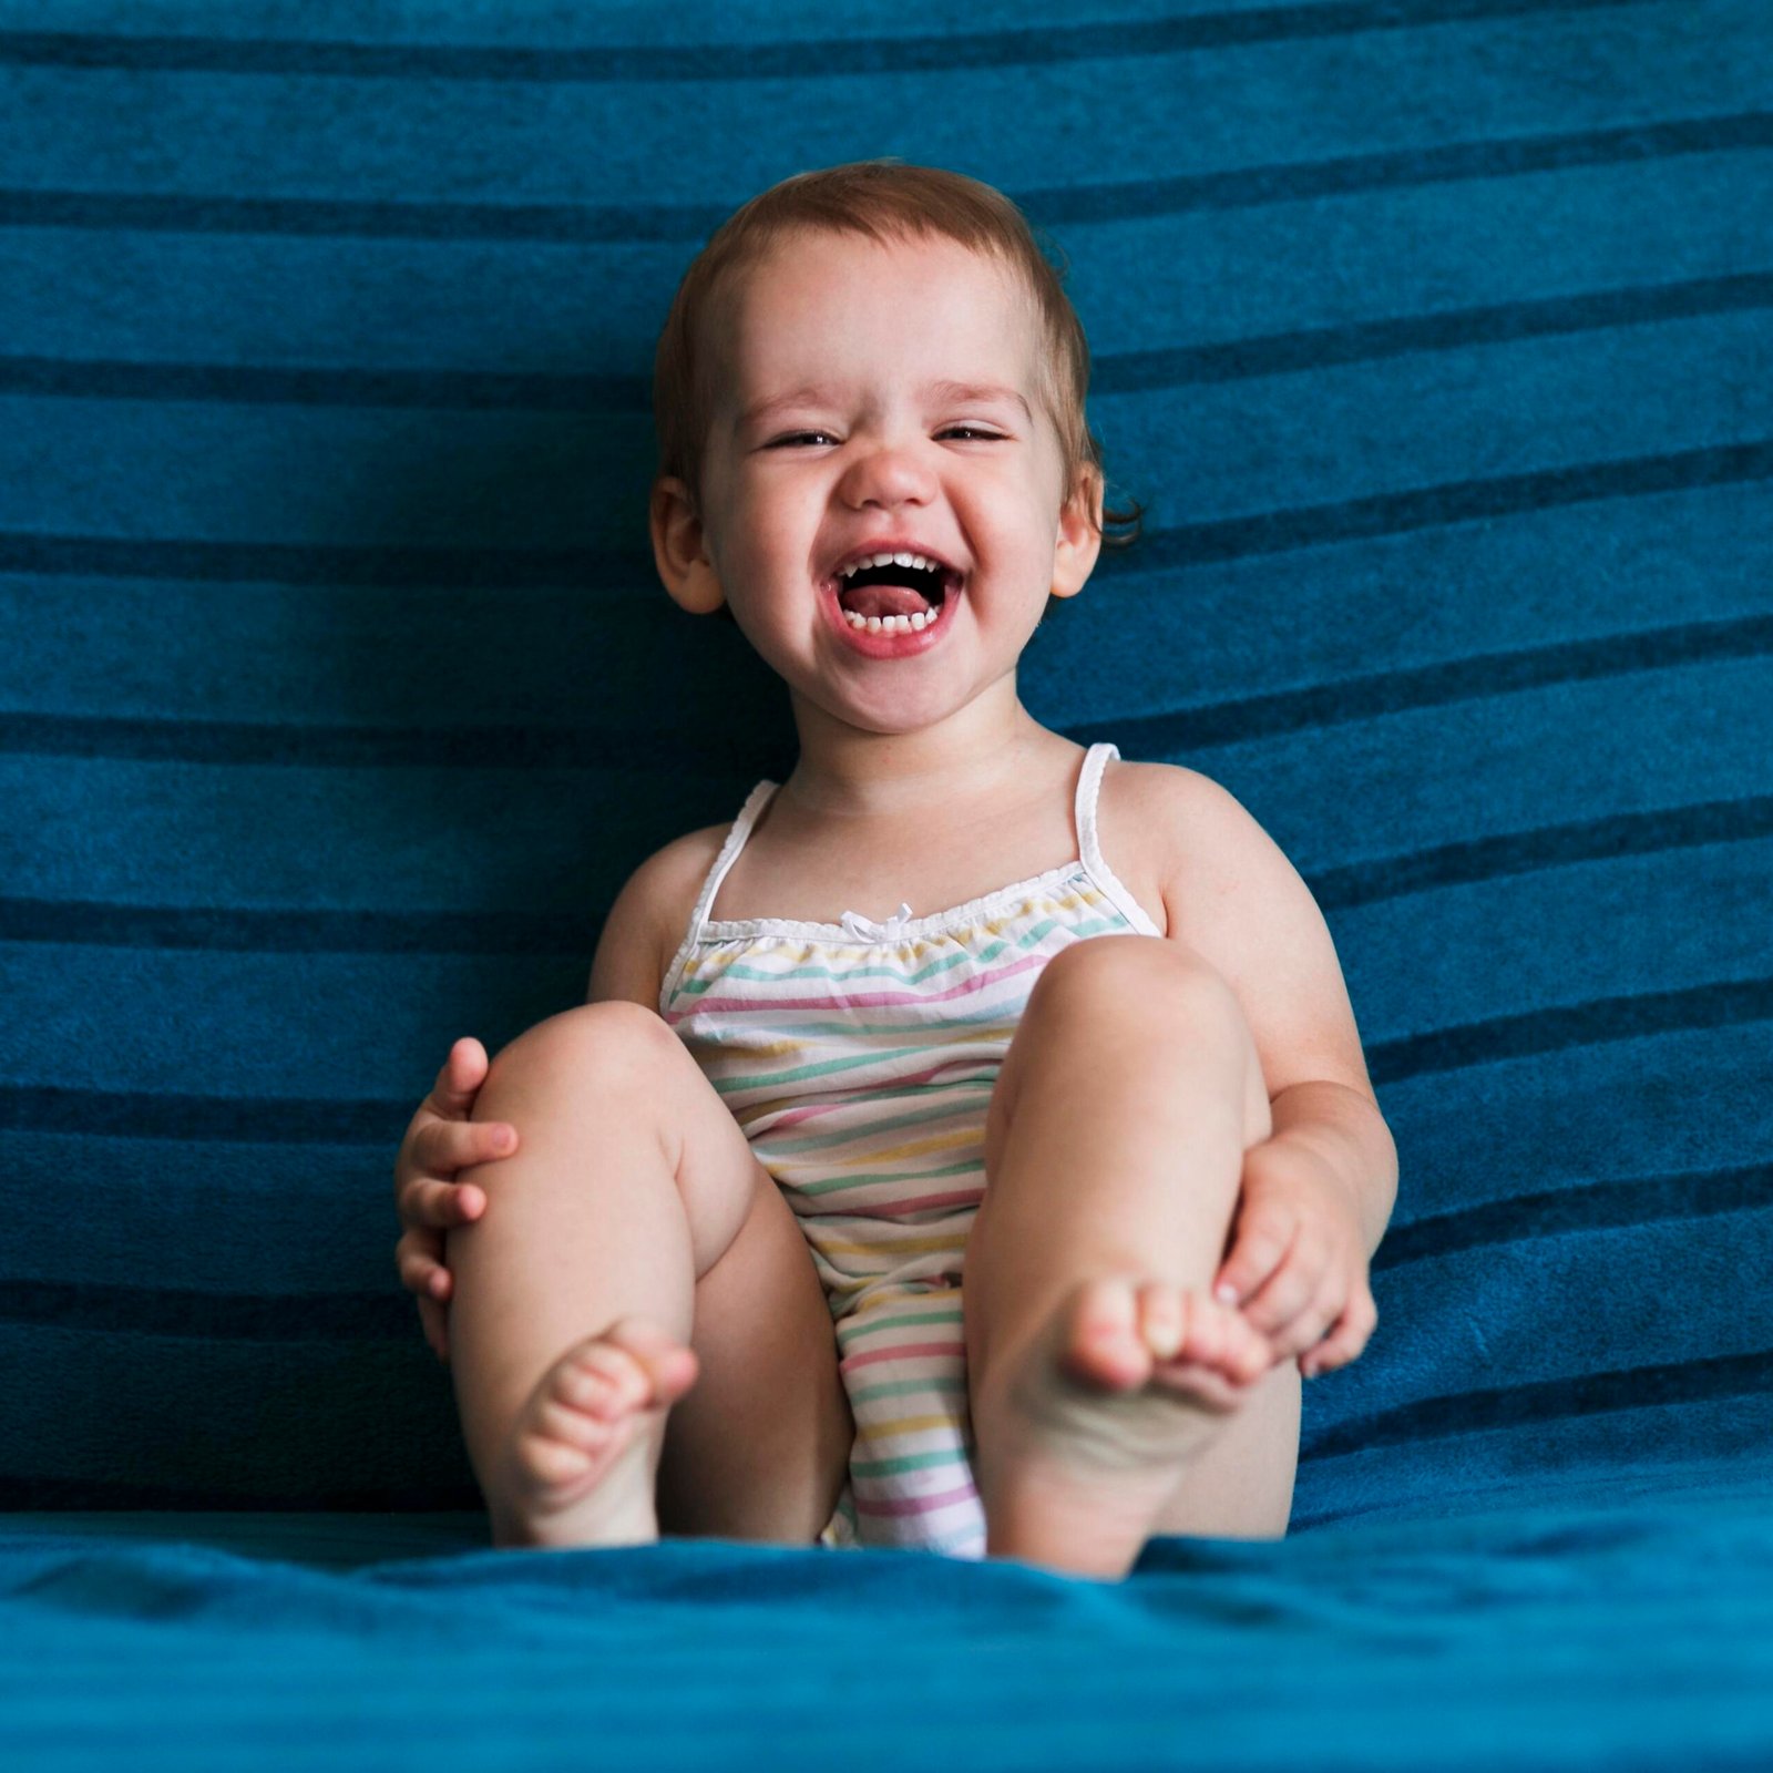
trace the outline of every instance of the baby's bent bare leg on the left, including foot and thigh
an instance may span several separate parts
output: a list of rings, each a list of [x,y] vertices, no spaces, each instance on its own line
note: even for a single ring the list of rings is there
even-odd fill
[[[830,1312],[683,1043],[644,1005],[582,1005],[500,1051],[473,1113],[521,1136],[461,1174],[488,1209],[449,1234],[493,1543],[642,1543],[663,1518],[808,1544],[849,1452]]]

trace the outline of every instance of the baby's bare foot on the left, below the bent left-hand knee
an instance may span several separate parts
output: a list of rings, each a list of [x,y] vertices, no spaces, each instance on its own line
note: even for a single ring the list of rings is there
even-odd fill
[[[619,1317],[574,1342],[541,1376],[511,1431],[495,1543],[658,1539],[644,1429],[695,1378],[695,1351],[649,1317]]]

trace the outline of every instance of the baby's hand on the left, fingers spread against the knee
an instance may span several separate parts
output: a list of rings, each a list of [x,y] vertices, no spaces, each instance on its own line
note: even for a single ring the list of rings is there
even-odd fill
[[[394,1160],[394,1206],[406,1227],[394,1246],[394,1264],[406,1289],[418,1294],[426,1340],[445,1365],[450,1271],[443,1266],[443,1232],[486,1211],[486,1195],[472,1184],[457,1186],[452,1177],[518,1149],[518,1129],[509,1122],[468,1119],[486,1069],[486,1048],[472,1034],[463,1035],[449,1050]]]

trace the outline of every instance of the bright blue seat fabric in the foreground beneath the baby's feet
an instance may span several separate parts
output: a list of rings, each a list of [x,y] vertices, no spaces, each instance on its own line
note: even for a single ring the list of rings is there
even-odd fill
[[[0,1759],[1746,1773],[1773,1764],[1769,1479],[1160,1539],[1122,1585],[466,1550],[470,1516],[32,1516],[0,1534]]]

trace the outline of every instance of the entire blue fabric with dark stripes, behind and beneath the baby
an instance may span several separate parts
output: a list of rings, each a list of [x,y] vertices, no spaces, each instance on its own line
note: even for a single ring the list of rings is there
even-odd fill
[[[1773,1759],[1769,149],[1764,0],[0,0],[0,1746]],[[793,764],[651,356],[878,154],[1058,243],[1147,507],[1027,704],[1287,851],[1399,1144],[1293,1535],[1121,1590],[479,1551],[392,1266],[450,1041]]]

